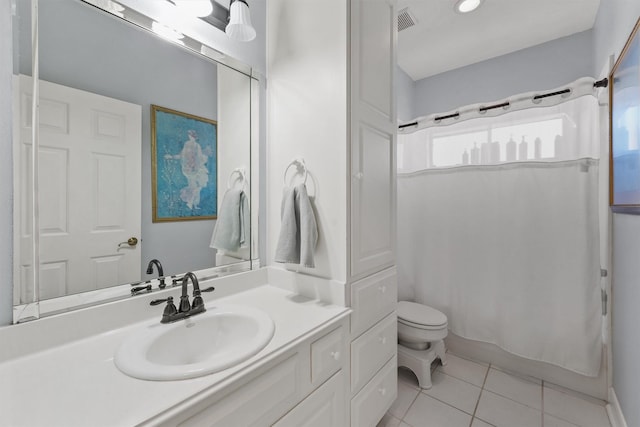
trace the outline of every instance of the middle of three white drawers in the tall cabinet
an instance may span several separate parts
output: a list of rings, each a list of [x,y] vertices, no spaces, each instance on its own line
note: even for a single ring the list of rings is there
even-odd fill
[[[351,393],[354,394],[397,353],[396,312],[351,343]]]

